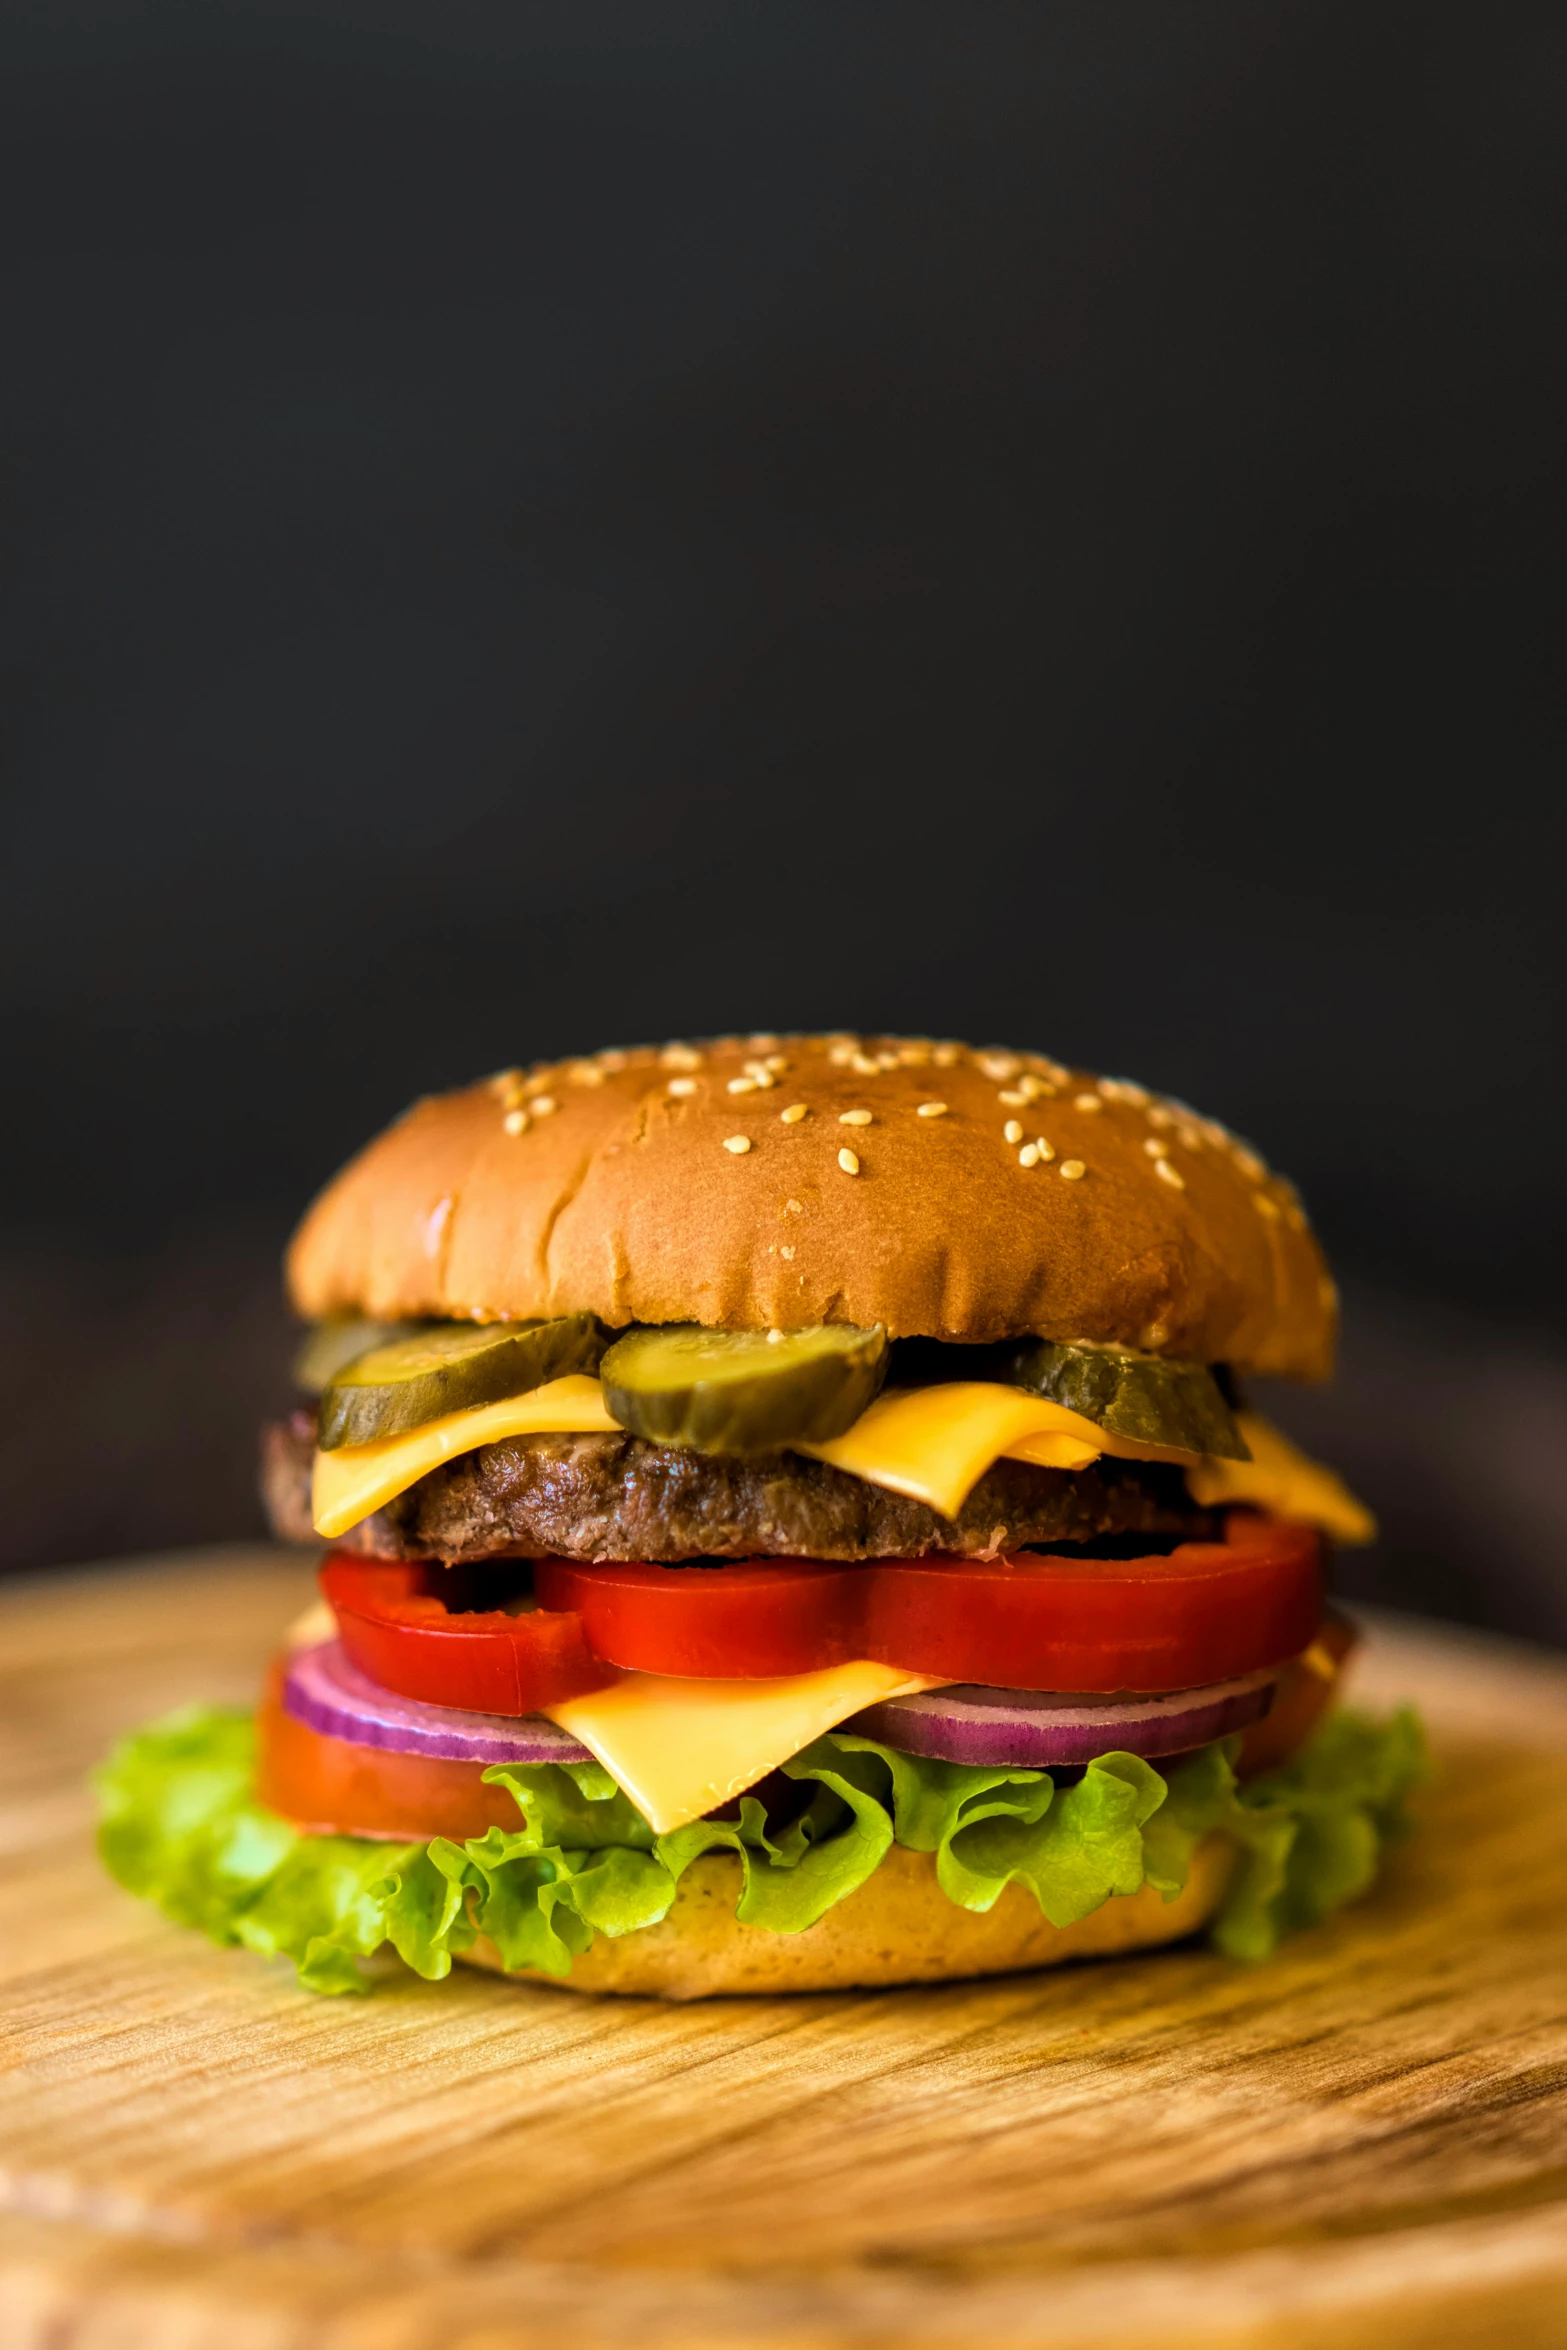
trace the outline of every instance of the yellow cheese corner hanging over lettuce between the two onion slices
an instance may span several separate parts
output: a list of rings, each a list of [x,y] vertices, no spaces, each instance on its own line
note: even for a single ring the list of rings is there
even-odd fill
[[[667,1835],[733,1802],[862,1706],[942,1687],[944,1680],[888,1664],[834,1664],[780,1680],[625,1673],[608,1690],[545,1706],[545,1713],[580,1739]]]

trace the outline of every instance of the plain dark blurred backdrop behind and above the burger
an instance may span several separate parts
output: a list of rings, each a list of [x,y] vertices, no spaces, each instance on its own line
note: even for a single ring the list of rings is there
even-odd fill
[[[1567,1640],[1567,16],[0,35],[0,1551],[244,1535],[409,1095],[865,1025],[1252,1133],[1353,1586]]]

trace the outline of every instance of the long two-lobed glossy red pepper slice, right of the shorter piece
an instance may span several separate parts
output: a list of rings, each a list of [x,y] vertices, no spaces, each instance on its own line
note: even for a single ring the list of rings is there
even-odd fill
[[[869,1657],[998,1690],[1193,1690],[1311,1645],[1323,1544],[1233,1511],[1222,1542],[1149,1558],[897,1558],[858,1567],[538,1560],[545,1610],[641,1673],[764,1678]],[[369,1671],[369,1666],[366,1666]]]

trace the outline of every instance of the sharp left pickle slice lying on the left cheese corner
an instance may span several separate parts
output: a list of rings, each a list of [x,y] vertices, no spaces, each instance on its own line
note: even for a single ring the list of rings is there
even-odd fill
[[[374,1445],[423,1429],[475,1403],[522,1396],[545,1379],[597,1370],[604,1332],[592,1314],[526,1323],[428,1323],[390,1347],[374,1347],[331,1379],[322,1396],[317,1445]]]

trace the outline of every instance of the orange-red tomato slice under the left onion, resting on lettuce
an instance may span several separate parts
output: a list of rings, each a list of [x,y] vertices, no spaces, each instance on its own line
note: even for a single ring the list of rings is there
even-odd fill
[[[388,1753],[308,1730],[282,1711],[282,1664],[268,1676],[256,1716],[256,1793],[312,1835],[381,1835],[399,1842],[486,1828],[517,1828],[522,1814],[503,1786],[484,1786],[482,1762]]]

